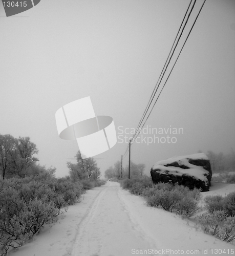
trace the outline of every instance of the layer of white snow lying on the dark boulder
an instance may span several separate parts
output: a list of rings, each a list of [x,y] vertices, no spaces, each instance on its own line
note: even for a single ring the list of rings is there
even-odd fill
[[[205,159],[208,160],[208,157],[204,153],[187,155],[187,156],[176,156],[172,158],[168,158],[166,160],[158,161],[152,167],[152,169],[159,169],[160,174],[166,174],[165,171],[168,171],[169,174],[180,175],[187,174],[188,176],[193,176],[196,179],[200,179],[202,181],[208,182],[207,178],[204,176],[205,174],[209,174],[207,170],[205,170],[202,166],[197,166],[194,164],[190,164],[188,159]],[[185,165],[188,169],[183,169],[180,167],[174,166],[164,166],[173,162],[178,162],[179,165]]]

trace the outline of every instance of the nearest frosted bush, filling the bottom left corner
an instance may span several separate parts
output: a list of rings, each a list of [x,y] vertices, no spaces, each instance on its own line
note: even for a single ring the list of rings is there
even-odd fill
[[[41,199],[25,200],[19,190],[3,183],[0,193],[0,252],[6,253],[10,247],[22,246],[41,227],[56,220],[58,209],[48,202],[47,195]]]

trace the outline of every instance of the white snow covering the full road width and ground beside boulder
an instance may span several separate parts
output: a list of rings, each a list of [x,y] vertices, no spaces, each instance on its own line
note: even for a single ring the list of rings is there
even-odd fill
[[[224,196],[234,190],[235,184],[215,183],[202,194]],[[195,216],[182,220],[163,209],[147,207],[142,197],[121,189],[117,182],[88,190],[61,217],[8,256],[131,256],[144,250],[160,252],[151,255],[173,255],[166,249],[185,254],[199,250],[197,255],[208,249],[207,255],[212,255],[209,249],[235,249],[196,229]]]

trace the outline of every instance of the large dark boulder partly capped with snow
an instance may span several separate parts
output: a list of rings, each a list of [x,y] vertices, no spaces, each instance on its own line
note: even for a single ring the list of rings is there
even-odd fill
[[[178,182],[190,189],[202,188],[202,191],[209,191],[212,176],[210,161],[204,153],[159,161],[150,173],[154,183]]]

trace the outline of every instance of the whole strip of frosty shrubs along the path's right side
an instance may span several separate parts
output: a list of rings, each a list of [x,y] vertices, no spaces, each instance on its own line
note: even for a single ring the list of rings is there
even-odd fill
[[[170,183],[153,184],[152,179],[145,175],[118,181],[123,189],[143,197],[148,206],[174,212],[183,219],[196,216],[197,228],[225,242],[235,241],[235,192],[226,197],[207,196],[202,199],[200,189],[190,190]],[[198,205],[200,200],[205,202],[206,212],[197,216],[198,210],[202,209]]]

